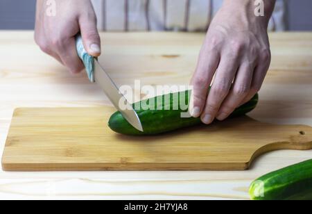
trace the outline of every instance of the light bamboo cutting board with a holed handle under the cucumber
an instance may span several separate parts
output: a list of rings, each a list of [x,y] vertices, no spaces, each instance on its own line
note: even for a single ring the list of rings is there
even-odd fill
[[[114,109],[19,108],[6,140],[6,171],[246,170],[277,149],[312,149],[312,128],[240,117],[149,137],[110,131]]]

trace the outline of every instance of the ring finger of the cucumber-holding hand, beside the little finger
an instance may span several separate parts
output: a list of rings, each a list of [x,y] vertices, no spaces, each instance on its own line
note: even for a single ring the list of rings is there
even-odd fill
[[[243,63],[239,67],[236,74],[232,89],[223,101],[217,115],[218,120],[225,120],[234,110],[241,104],[241,101],[250,92],[250,85],[252,83],[252,75],[254,73],[254,66],[249,63]]]

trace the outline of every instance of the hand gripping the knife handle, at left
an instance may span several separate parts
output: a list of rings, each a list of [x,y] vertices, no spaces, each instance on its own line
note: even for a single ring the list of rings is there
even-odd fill
[[[84,69],[76,52],[75,36],[81,33],[83,44],[92,56],[101,54],[96,15],[90,0],[55,0],[56,15],[46,15],[46,1],[37,0],[35,42],[66,66],[73,74]]]

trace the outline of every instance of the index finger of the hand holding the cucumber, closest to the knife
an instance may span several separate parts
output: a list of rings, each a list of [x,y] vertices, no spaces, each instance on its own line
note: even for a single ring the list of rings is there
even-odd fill
[[[219,59],[218,53],[215,52],[205,53],[203,50],[200,53],[196,72],[191,80],[193,92],[190,112],[193,117],[199,117],[205,107],[209,85],[218,67]]]

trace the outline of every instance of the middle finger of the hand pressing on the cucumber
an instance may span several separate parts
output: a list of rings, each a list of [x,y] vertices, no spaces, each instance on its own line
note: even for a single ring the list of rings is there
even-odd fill
[[[223,100],[229,93],[238,64],[235,58],[224,56],[216,71],[214,83],[209,91],[205,110],[201,115],[202,122],[210,124],[214,121]]]

